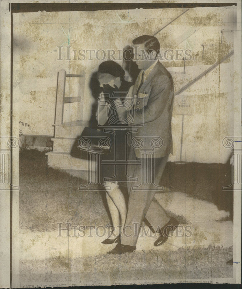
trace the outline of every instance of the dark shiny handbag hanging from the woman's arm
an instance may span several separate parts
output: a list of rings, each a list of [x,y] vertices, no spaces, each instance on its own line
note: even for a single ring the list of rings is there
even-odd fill
[[[74,158],[85,158],[87,152],[97,152],[108,155],[112,150],[114,135],[104,131],[99,131],[90,127],[85,127],[82,134],[78,136],[71,148],[71,156]]]

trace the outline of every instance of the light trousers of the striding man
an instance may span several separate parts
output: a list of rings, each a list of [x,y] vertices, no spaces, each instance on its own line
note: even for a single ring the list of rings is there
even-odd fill
[[[160,182],[168,157],[169,155],[162,158],[154,158],[154,183],[156,185]],[[151,188],[154,188],[152,181],[145,184],[145,189],[143,190],[132,188],[132,186],[137,186],[141,179],[141,166],[137,164],[132,165],[132,161],[144,163],[144,160],[136,157],[132,147],[130,148],[129,161],[130,164],[127,167],[127,175],[129,177],[138,178],[138,181],[127,182],[129,203],[125,227],[121,234],[121,244],[136,246],[140,226],[142,225],[144,218],[147,219],[155,231],[163,227],[170,218],[167,217],[165,210],[156,199],[154,199],[155,193],[159,192],[159,190],[150,190]],[[147,171],[147,173],[149,173],[149,171]],[[162,192],[162,190],[160,192]]]

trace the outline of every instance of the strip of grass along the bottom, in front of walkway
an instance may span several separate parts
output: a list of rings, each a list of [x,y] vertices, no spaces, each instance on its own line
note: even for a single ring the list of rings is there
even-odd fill
[[[21,279],[67,281],[69,284],[94,283],[101,277],[109,284],[122,281],[207,279],[233,277],[232,248],[178,249],[177,251],[139,251],[122,255],[97,255],[69,259],[64,256],[20,262]],[[29,275],[29,268],[32,274]],[[49,283],[50,284],[50,283]],[[60,283],[58,283],[60,284]]]

